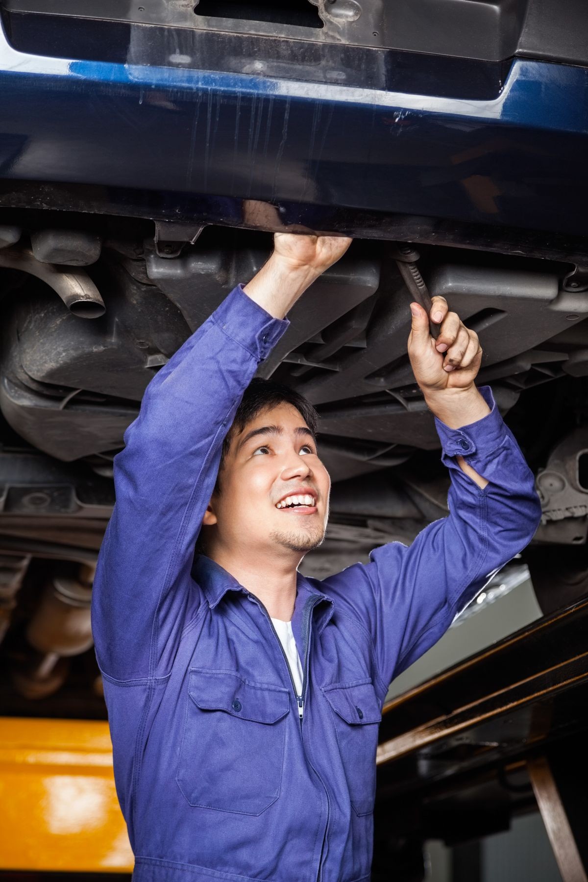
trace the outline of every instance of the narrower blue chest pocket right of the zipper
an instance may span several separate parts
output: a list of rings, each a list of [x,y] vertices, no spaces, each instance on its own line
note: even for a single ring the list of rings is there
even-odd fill
[[[374,811],[376,797],[376,749],[380,702],[371,680],[322,687],[331,705],[341,761],[354,811]]]

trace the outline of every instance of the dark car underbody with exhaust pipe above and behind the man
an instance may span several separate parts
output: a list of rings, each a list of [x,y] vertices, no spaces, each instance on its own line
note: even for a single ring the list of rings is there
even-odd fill
[[[0,538],[14,600],[30,556],[51,559],[57,580],[79,580],[75,568],[92,565],[114,504],[112,460],[145,386],[264,264],[272,236],[167,224],[163,238],[147,218],[68,212],[4,211],[2,220]],[[331,516],[307,572],[326,575],[377,544],[411,542],[448,512],[434,418],[406,355],[414,279],[480,335],[479,382],[491,386],[537,475],[541,568],[557,546],[581,570],[588,278],[565,260],[372,238],[357,239],[303,295],[258,370],[302,392],[321,416]],[[83,584],[77,590],[83,603]]]

